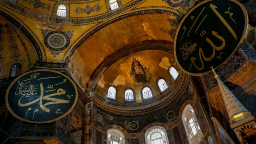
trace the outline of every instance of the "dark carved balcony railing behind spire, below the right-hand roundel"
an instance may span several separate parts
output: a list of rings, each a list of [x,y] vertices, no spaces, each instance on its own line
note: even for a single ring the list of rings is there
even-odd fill
[[[243,64],[247,60],[248,57],[244,54],[243,50],[238,49],[236,53],[226,63],[215,69],[215,71],[219,75],[220,79],[224,81],[234,72],[236,72],[237,69],[243,66]],[[207,90],[210,90],[217,85],[217,81],[214,78],[213,73],[208,73],[206,75],[203,75],[202,77]]]

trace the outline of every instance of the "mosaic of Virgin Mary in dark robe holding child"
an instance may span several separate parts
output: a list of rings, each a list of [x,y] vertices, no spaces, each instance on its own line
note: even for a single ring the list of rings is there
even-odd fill
[[[135,56],[131,58],[131,61],[132,67],[130,70],[130,76],[132,77],[134,87],[139,87],[148,84],[151,80],[149,68],[147,68],[144,65],[141,65],[140,61],[138,61],[138,58]]]

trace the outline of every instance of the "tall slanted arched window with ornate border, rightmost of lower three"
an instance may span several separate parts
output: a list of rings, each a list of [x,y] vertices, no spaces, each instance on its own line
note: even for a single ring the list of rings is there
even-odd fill
[[[182,112],[182,122],[190,144],[198,144],[203,138],[203,133],[198,124],[193,107],[188,104]]]

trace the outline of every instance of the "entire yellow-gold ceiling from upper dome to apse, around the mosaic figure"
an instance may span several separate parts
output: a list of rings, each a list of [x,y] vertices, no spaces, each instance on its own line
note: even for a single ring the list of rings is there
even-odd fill
[[[188,9],[187,2],[118,0],[120,7],[112,11],[105,0],[9,0],[0,4],[0,14],[1,24],[8,23],[15,34],[23,33],[20,35],[29,46],[31,64],[22,73],[36,60],[66,62],[68,73],[88,97],[93,93],[102,103],[113,106],[104,99],[108,87],[114,85],[118,93],[114,105],[125,107],[123,93],[127,88],[135,91],[138,105],[145,105],[140,95],[143,86],[149,86],[161,101],[167,95],[157,87],[159,78],[168,83],[168,93],[182,86],[181,81],[188,81],[173,55],[174,36],[181,15]],[[56,15],[60,4],[67,6],[65,18]],[[19,43],[20,50],[23,43]],[[22,55],[26,58],[25,53]],[[148,68],[148,83],[134,83],[132,57]],[[8,62],[10,59],[4,60],[4,64]],[[180,72],[176,81],[168,73],[171,66]],[[7,78],[8,71],[4,73],[1,76]]]

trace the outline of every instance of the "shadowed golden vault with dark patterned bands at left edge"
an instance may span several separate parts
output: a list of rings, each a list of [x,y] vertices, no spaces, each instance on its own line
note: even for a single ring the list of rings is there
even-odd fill
[[[34,46],[19,29],[4,18],[0,18],[1,77],[9,77],[10,66],[18,62],[24,73],[34,66],[37,54]],[[3,61],[3,62],[2,62]]]

